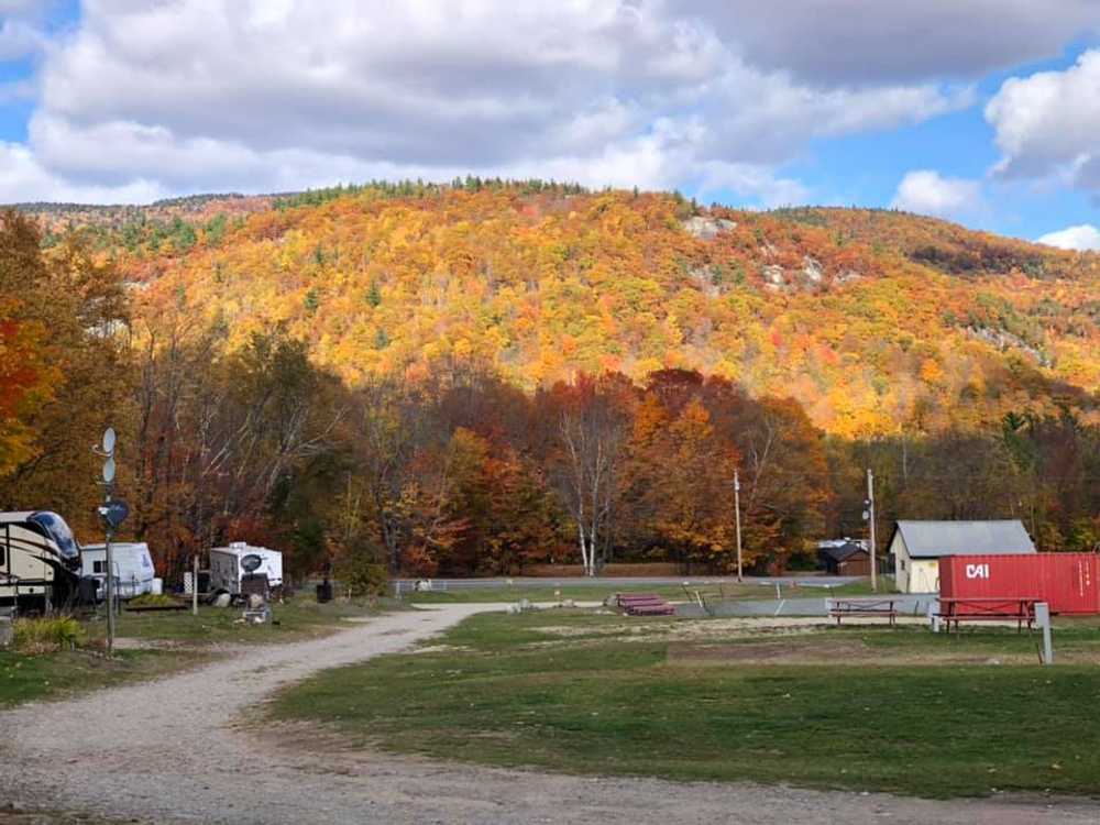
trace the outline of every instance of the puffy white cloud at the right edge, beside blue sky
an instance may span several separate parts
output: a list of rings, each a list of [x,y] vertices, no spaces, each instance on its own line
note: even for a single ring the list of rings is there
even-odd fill
[[[1008,178],[1055,176],[1100,193],[1100,48],[1065,72],[1005,80],[986,107]]]

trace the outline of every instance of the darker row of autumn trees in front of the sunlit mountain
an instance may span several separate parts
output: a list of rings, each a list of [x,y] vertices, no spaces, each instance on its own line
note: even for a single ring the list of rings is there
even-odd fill
[[[1068,409],[858,441],[825,436],[792,399],[681,370],[525,393],[451,359],[349,387],[283,327],[232,349],[183,294],[135,312],[78,237],[43,257],[14,215],[0,222],[0,507],[56,509],[96,537],[90,448],[111,424],[127,538],[169,576],[235,539],[364,584],[550,561],[727,572],[735,471],[759,572],[864,535],[868,466],[883,543],[902,517],[1018,517],[1044,550],[1100,538],[1100,428]]]

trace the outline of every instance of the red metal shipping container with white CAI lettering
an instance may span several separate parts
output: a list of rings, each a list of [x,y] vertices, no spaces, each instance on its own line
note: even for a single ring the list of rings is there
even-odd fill
[[[944,598],[1034,598],[1050,613],[1100,613],[1100,556],[945,556],[939,559]],[[959,613],[974,613],[966,605]]]

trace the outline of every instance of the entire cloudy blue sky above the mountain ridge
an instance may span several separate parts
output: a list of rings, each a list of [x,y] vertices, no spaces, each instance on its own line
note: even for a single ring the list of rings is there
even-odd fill
[[[1100,0],[0,0],[0,202],[468,173],[1100,249]]]

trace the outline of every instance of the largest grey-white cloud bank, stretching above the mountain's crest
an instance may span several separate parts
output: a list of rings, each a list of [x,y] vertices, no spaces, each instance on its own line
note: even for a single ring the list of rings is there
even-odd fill
[[[260,191],[473,172],[787,204],[807,193],[778,169],[812,139],[974,100],[926,78],[807,79],[748,48],[717,4],[673,0],[81,11],[43,56],[29,128],[38,189]]]

